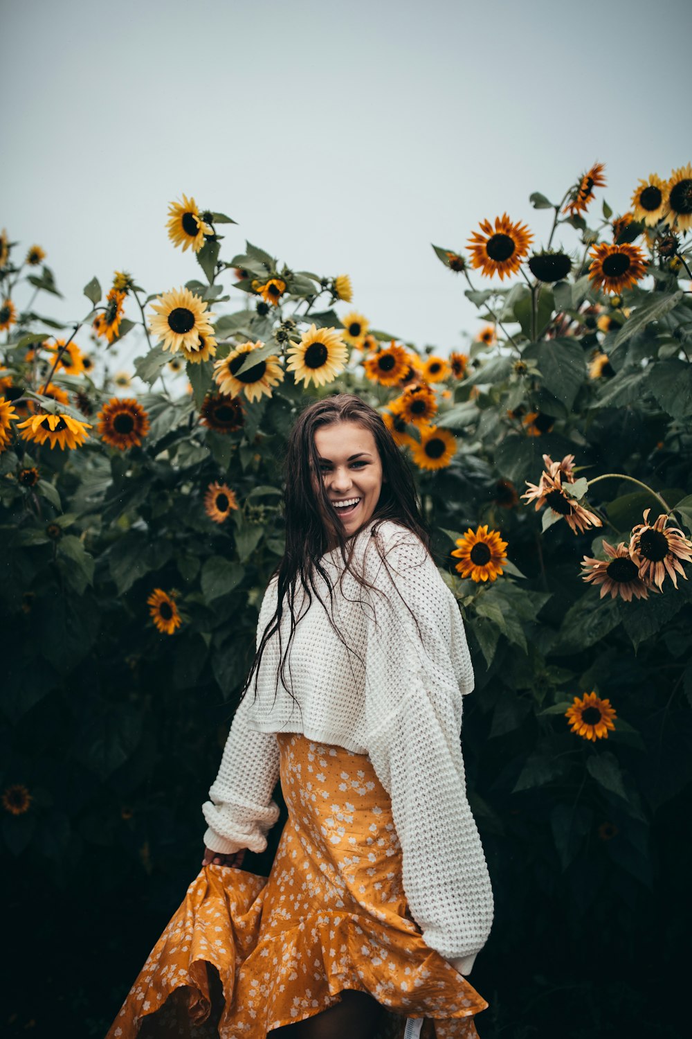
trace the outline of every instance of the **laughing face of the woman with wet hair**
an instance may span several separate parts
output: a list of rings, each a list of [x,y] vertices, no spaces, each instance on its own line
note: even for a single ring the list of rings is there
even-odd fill
[[[315,431],[314,446],[327,497],[350,537],[368,522],[380,500],[382,461],[375,436],[355,422],[336,422]]]

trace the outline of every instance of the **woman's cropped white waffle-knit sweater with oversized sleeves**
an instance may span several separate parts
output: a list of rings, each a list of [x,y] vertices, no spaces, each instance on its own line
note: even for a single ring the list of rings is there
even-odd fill
[[[285,673],[302,713],[280,678],[275,700],[275,633],[262,655],[257,698],[253,677],[233,718],[211,801],[202,806],[209,825],[203,840],[221,853],[267,847],[267,831],[279,815],[272,801],[279,774],[274,734],[303,732],[319,743],[367,753],[391,797],[411,913],[425,943],[468,974],[490,934],[493,893],[466,797],[460,744],[463,696],[473,689],[464,624],[420,539],[391,521],[379,524],[377,538],[372,528],[370,522],[356,536],[354,563],[375,592],[350,574],[340,590],[340,554],[322,559],[335,585],[334,621],[355,651],[342,645],[317,598],[312,595],[309,604],[299,584],[295,610],[302,619]],[[317,575],[315,583],[329,607]],[[261,604],[257,645],[276,600],[274,578]],[[289,630],[284,605],[282,652]]]

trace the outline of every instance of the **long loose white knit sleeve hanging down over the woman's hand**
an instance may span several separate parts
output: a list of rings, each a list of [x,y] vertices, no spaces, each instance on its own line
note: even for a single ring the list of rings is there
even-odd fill
[[[366,554],[376,588],[366,624],[368,753],[391,797],[411,913],[426,944],[468,974],[494,912],[460,742],[473,672],[453,595],[419,538],[396,531],[383,537],[391,579],[373,547]]]

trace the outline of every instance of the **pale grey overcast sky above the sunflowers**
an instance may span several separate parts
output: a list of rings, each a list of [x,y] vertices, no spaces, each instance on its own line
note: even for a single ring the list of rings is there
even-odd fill
[[[223,258],[248,238],[295,269],[349,273],[371,325],[446,354],[479,322],[431,242],[462,249],[506,211],[539,245],[551,214],[532,191],[559,201],[600,160],[598,205],[619,213],[639,178],[692,160],[684,0],[0,10],[0,227],[48,254],[65,299],[39,309],[59,319],[87,313],[93,274],[108,287],[124,269],[147,292],[202,276],[167,237],[185,192],[238,221],[219,229]]]

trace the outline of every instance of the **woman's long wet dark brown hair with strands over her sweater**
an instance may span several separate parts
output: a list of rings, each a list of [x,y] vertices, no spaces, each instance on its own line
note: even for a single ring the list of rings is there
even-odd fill
[[[372,533],[376,533],[380,523],[385,520],[392,520],[416,534],[430,552],[431,535],[425,521],[420,513],[420,502],[413,476],[403,453],[394,443],[389,429],[379,412],[370,407],[369,404],[362,401],[360,397],[350,393],[335,394],[332,397],[325,397],[309,404],[301,412],[290,432],[283,459],[283,514],[286,541],[281,562],[272,575],[272,578],[278,575],[277,607],[274,615],[265,628],[261,641],[255,651],[250,673],[243,686],[241,699],[245,696],[253,675],[255,678],[254,689],[256,698],[259,663],[268,640],[276,631],[279,631],[279,655],[281,654],[280,623],[285,596],[290,613],[290,635],[286,651],[280,658],[281,664],[277,672],[274,699],[276,700],[280,674],[283,688],[295,700],[293,692],[285,682],[284,666],[297,625],[294,607],[298,580],[300,579],[307,594],[308,609],[312,603],[310,589],[316,595],[320,603],[322,603],[323,607],[325,607],[325,603],[314,583],[313,575],[316,571],[327,585],[330,606],[333,607],[334,589],[329,575],[321,562],[322,557],[329,551],[330,547],[333,545],[334,551],[338,549],[341,554],[343,570],[339,583],[342,581],[345,572],[350,572],[361,587],[367,586],[368,588],[372,588],[372,585],[365,580],[363,575],[357,572],[352,566],[355,538],[353,535],[349,536],[345,534],[341,520],[327,495],[324,481],[322,479],[313,479],[313,473],[320,474],[321,472],[320,457],[314,444],[314,432],[323,426],[339,422],[356,423],[364,429],[369,429],[375,437],[382,462],[383,480],[380,498],[368,521],[369,523],[375,522]],[[386,557],[380,553],[379,545],[378,552],[391,579]],[[331,609],[328,610],[325,607],[325,611],[331,627],[341,643],[347,647],[349,652],[355,651],[348,646],[341,633],[334,624]],[[301,614],[302,616],[304,614]],[[360,657],[359,654],[357,656]]]

